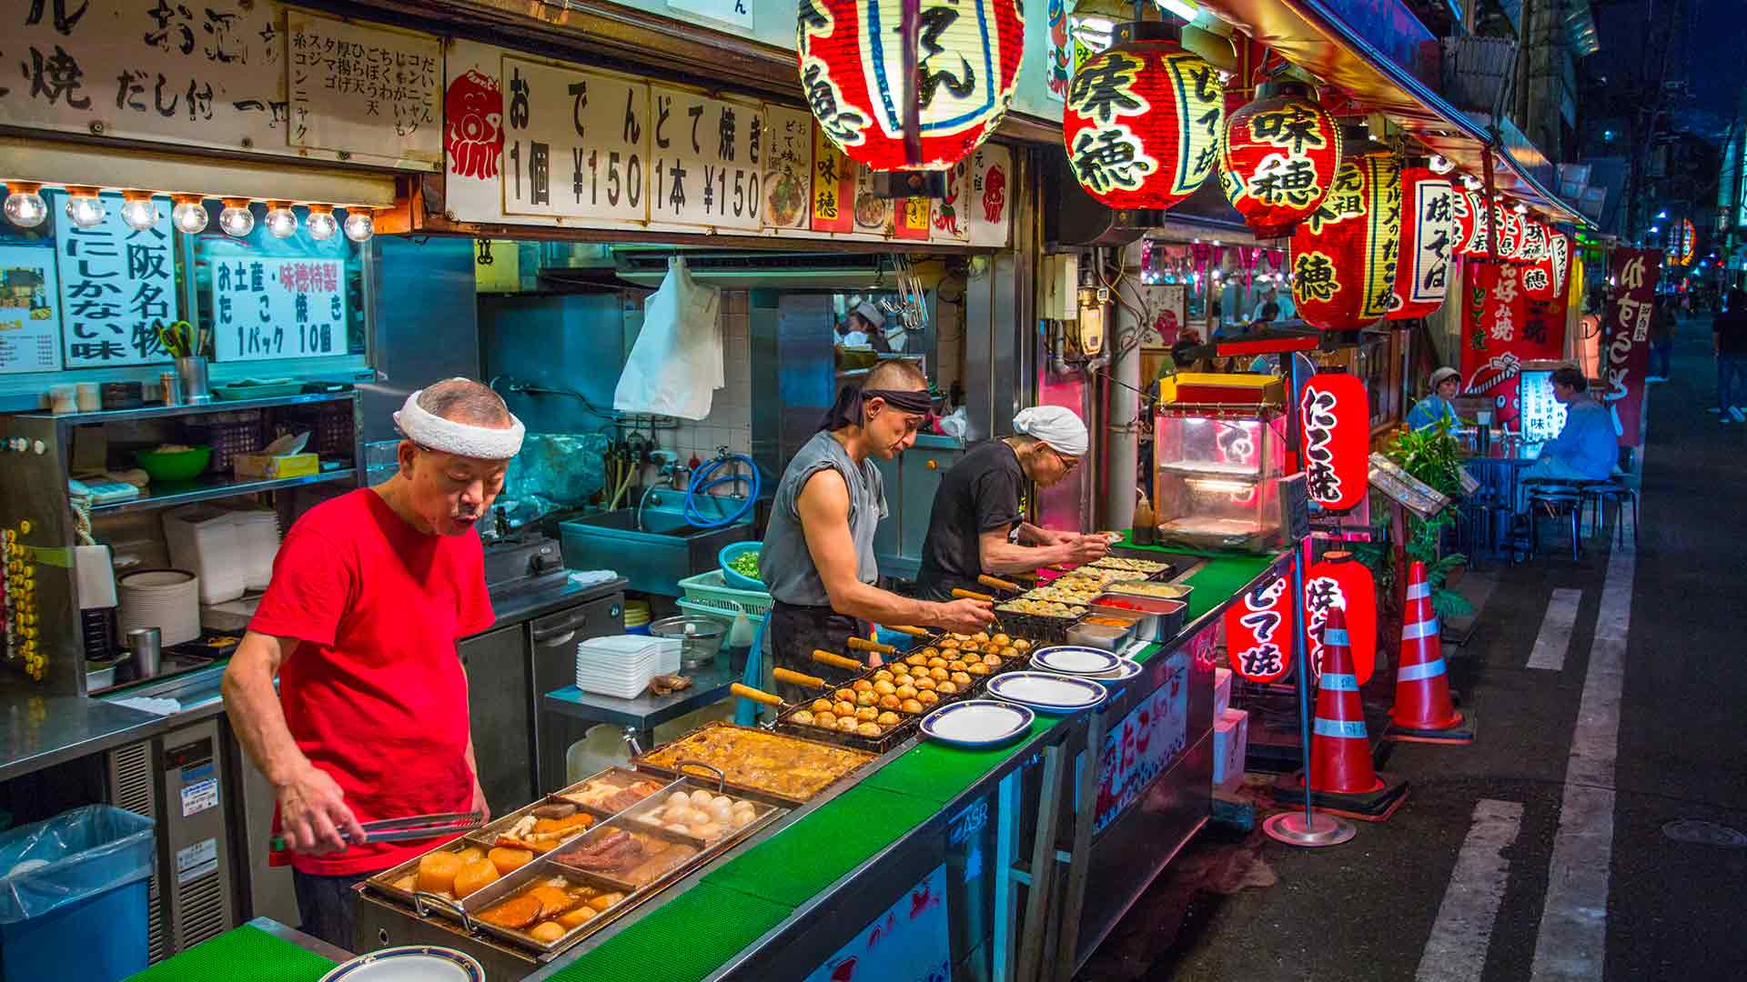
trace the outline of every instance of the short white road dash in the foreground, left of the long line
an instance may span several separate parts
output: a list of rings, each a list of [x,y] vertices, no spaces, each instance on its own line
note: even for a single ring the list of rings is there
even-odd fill
[[[1492,924],[1499,919],[1509,861],[1504,847],[1522,832],[1523,806],[1481,799],[1443,891],[1438,921],[1420,956],[1415,982],[1478,982],[1487,966]]]

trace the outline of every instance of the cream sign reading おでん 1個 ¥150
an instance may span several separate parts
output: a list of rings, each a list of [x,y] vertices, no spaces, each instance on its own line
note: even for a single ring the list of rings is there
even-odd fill
[[[503,79],[510,93],[503,213],[643,224],[648,86],[524,58],[505,58]]]

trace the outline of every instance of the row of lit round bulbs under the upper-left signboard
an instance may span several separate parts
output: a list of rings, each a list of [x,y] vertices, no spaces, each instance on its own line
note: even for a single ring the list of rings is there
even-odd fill
[[[35,229],[49,218],[49,203],[42,197],[42,185],[31,182],[7,182],[5,185],[7,222],[19,229]],[[121,192],[121,220],[135,231],[145,231],[157,224],[157,197],[150,190]],[[199,234],[206,231],[210,220],[206,203],[199,194],[171,194],[169,222],[176,231]],[[255,211],[250,210],[248,197],[222,197],[224,211],[218,213],[218,227],[227,236],[243,238],[255,231]],[[332,204],[307,204],[309,217],[304,229],[309,238],[325,241],[334,238],[341,222],[334,218]],[[94,229],[103,224],[108,206],[98,197],[96,187],[66,187],[66,218],[80,229]],[[349,208],[346,211],[346,238],[355,243],[369,241],[376,234],[376,218],[369,208]],[[273,238],[288,239],[297,234],[297,211],[290,201],[267,201],[267,231]]]

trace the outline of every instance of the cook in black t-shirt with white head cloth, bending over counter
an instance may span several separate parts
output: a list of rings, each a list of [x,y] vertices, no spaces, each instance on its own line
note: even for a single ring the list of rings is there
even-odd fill
[[[1090,442],[1085,421],[1071,409],[1038,405],[1013,416],[1013,432],[977,444],[940,479],[917,573],[924,598],[980,591],[984,573],[1090,563],[1109,549],[1102,535],[1038,528],[1019,503],[1025,482],[1048,488],[1074,470]]]

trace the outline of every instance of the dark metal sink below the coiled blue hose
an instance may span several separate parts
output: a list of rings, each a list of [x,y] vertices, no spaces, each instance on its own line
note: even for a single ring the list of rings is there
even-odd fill
[[[706,517],[727,515],[741,498],[704,498],[699,510]],[[701,529],[685,517],[685,494],[657,491],[643,507],[617,508],[559,522],[557,540],[564,564],[571,570],[615,570],[631,580],[632,591],[680,596],[680,580],[720,566],[716,556],[730,542],[753,536],[751,514],[746,519]]]

